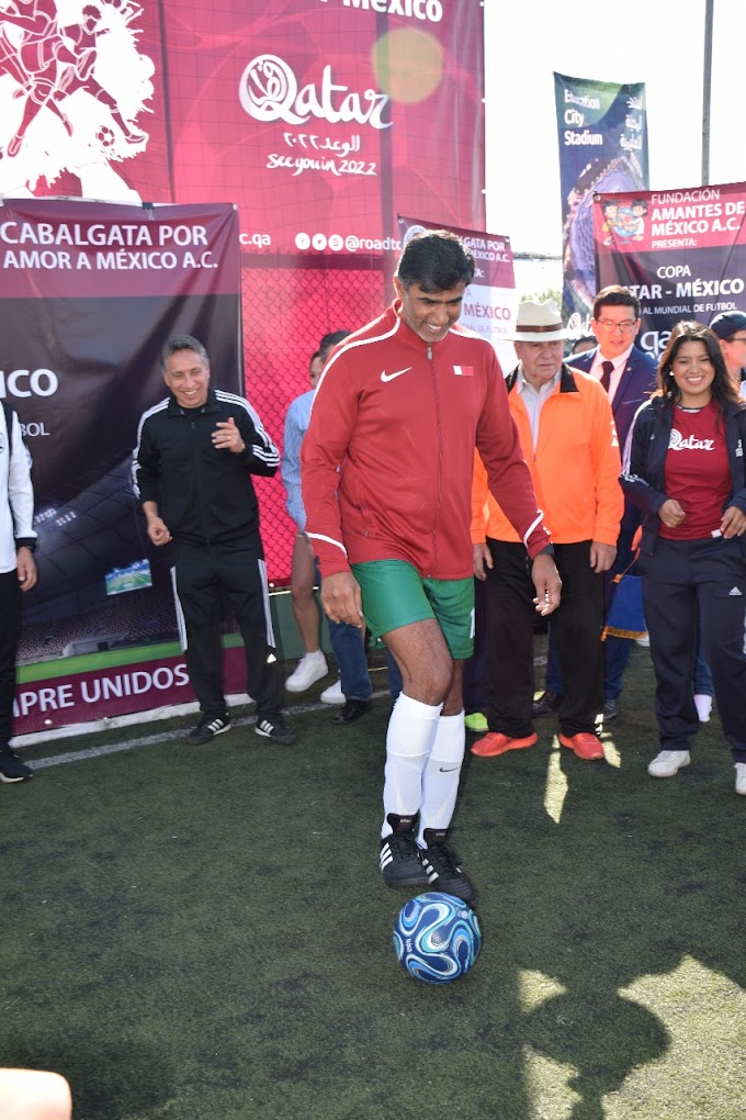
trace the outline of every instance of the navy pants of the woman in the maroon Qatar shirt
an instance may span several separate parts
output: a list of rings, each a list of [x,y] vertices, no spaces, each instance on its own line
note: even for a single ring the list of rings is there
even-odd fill
[[[734,762],[746,763],[746,561],[738,538],[667,541],[641,557],[642,598],[664,750],[688,750],[699,730],[692,674],[698,618]]]

